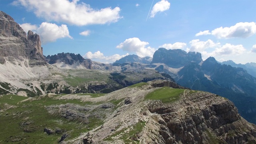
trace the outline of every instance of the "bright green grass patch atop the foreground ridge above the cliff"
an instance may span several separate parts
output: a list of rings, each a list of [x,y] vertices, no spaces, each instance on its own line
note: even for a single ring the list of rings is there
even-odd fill
[[[175,102],[183,94],[185,89],[162,87],[147,94],[145,100],[161,100],[163,103]]]

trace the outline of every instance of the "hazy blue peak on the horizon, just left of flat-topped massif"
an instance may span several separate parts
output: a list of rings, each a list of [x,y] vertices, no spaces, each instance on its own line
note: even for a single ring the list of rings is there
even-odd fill
[[[138,63],[142,63],[142,64],[150,64],[151,61],[152,61],[152,58],[150,56],[141,58],[135,54],[132,54],[132,55],[125,56],[125,57],[121,58],[120,60],[116,60],[116,62],[114,62],[114,63],[123,64],[123,63],[138,62]]]

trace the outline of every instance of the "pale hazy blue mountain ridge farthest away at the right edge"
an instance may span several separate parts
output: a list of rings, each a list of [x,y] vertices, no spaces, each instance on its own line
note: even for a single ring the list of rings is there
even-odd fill
[[[246,64],[236,64],[232,60],[220,62],[220,64],[227,64],[235,68],[243,68],[247,70],[248,74],[254,76],[256,78],[256,63],[251,62],[251,63],[246,63]]]

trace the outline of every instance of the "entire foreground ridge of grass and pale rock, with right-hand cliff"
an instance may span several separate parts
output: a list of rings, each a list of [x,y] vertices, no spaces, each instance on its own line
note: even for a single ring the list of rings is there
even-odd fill
[[[232,102],[165,80],[110,94],[46,94],[24,99],[0,97],[1,143],[256,142],[256,126],[244,120]]]

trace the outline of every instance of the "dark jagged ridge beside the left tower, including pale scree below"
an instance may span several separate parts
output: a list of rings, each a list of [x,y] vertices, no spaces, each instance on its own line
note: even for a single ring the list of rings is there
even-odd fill
[[[92,69],[92,60],[84,59],[80,54],[62,52],[57,55],[48,55],[45,58],[49,64],[57,66],[58,68]]]

